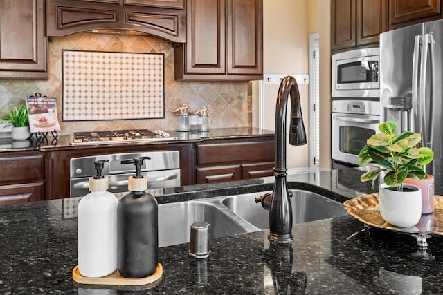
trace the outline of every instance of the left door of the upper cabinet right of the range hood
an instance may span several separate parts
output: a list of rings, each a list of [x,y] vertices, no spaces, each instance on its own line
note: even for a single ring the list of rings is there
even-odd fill
[[[224,0],[190,0],[186,13],[186,73],[224,74]]]

